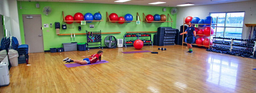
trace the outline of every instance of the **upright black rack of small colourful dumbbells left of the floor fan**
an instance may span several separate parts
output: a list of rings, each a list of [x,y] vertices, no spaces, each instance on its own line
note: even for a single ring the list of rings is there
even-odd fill
[[[100,38],[100,41],[90,41],[88,38],[89,38],[89,35],[93,36],[93,37],[97,37],[97,38]],[[88,33],[88,31],[86,30],[86,36],[87,36],[87,50],[89,50],[89,46],[93,46],[93,45],[89,45],[89,43],[96,43],[96,42],[100,42],[100,44],[95,44],[95,45],[100,45],[99,48],[102,48],[102,39],[101,39],[101,30],[100,31],[92,31],[90,32],[90,34]]]

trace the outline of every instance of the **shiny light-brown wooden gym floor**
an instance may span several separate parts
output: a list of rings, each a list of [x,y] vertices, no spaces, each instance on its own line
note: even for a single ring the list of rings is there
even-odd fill
[[[82,59],[99,49],[30,53],[30,66],[10,69],[1,93],[255,93],[256,60],[174,45],[103,49],[109,63],[67,68],[63,58]]]

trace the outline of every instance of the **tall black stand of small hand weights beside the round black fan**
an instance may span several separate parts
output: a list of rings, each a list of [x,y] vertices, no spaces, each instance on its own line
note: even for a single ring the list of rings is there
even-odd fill
[[[100,45],[98,48],[103,49],[102,47],[102,39],[101,39],[101,30],[100,31],[87,31],[86,30],[86,36],[87,36],[87,50],[89,50],[89,46],[94,46],[94,45]],[[89,45],[89,43],[96,43],[100,42],[100,44],[94,44],[94,45]]]

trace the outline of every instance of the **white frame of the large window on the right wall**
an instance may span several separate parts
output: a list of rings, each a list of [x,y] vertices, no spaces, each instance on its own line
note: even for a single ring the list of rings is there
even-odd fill
[[[209,15],[211,16],[211,14],[220,14],[220,13],[225,13],[225,23],[224,23],[224,26],[217,26],[217,25],[212,25],[212,27],[215,27],[216,29],[217,28],[224,28],[224,31],[223,31],[223,37],[225,37],[226,35],[226,28],[242,28],[242,35],[241,35],[241,38],[243,36],[243,27],[227,27],[226,26],[226,20],[227,20],[227,14],[228,13],[240,13],[240,12],[243,12],[244,15],[245,15],[245,11],[236,11],[236,12],[209,12]],[[243,16],[243,24],[244,24],[244,16]],[[224,41],[224,40],[223,40]]]

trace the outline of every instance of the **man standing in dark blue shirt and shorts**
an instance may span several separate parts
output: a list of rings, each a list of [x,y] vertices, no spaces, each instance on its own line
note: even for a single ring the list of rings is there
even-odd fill
[[[195,28],[192,26],[192,22],[190,21],[189,22],[189,27],[187,27],[187,31],[179,34],[179,35],[183,35],[183,34],[186,34],[187,33],[187,48],[189,48],[189,53],[193,53],[192,51],[192,43],[194,41],[194,36],[196,36],[196,32],[195,32]]]

